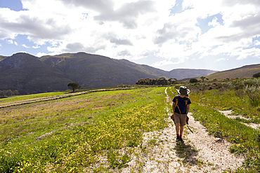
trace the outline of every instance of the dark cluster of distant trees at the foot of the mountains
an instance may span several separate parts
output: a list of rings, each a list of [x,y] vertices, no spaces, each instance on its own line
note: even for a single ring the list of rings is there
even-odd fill
[[[177,83],[176,78],[169,78],[168,80],[164,77],[161,78],[141,78],[136,82],[136,85],[171,85]]]

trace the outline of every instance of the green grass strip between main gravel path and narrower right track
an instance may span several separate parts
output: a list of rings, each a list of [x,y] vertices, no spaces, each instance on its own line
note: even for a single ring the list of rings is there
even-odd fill
[[[221,132],[221,136],[230,141],[230,152],[242,154],[245,157],[244,172],[260,171],[260,135],[259,130],[242,125],[236,120],[226,118],[215,109],[193,104],[193,117],[207,127],[209,134]],[[242,171],[238,169],[237,171]]]

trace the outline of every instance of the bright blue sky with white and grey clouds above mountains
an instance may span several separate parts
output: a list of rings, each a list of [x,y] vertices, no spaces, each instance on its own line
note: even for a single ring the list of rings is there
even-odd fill
[[[0,55],[85,52],[170,71],[260,64],[259,0],[1,0]]]

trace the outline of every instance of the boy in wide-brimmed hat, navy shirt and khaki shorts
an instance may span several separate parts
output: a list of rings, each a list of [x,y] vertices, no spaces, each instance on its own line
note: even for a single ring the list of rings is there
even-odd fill
[[[183,142],[182,134],[184,125],[186,125],[186,118],[190,109],[190,99],[188,98],[188,93],[190,90],[186,88],[186,86],[181,86],[179,90],[177,90],[178,94],[172,100],[172,109],[174,110],[174,123],[176,126],[176,142]],[[177,104],[176,104],[177,102]]]

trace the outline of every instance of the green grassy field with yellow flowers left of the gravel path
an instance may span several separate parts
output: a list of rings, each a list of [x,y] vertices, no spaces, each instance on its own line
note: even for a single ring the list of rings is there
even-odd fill
[[[166,127],[163,92],[95,92],[0,109],[0,172],[122,169],[143,132]]]

